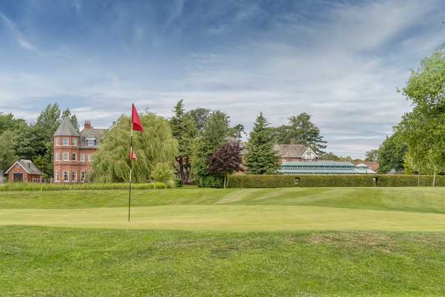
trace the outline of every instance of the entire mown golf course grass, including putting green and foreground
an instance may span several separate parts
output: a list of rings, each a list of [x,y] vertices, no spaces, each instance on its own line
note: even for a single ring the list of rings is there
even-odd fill
[[[445,188],[0,192],[0,296],[441,296]]]

